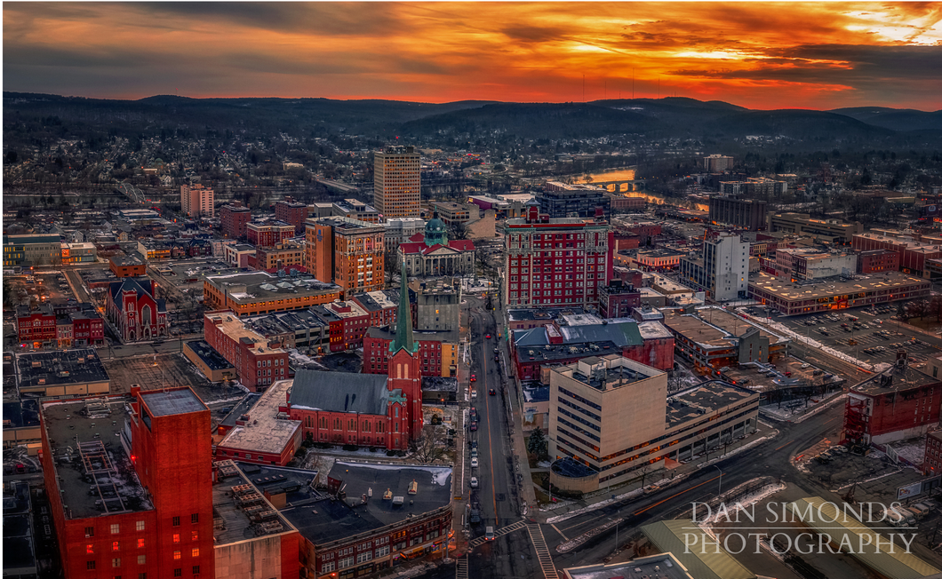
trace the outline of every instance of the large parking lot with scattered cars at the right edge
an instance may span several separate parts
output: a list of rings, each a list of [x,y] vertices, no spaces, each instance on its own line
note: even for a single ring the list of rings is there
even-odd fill
[[[942,353],[942,338],[910,330],[891,319],[896,307],[888,305],[856,308],[838,312],[780,318],[790,330],[824,346],[831,346],[869,363],[893,362],[896,351],[903,349],[916,368]]]

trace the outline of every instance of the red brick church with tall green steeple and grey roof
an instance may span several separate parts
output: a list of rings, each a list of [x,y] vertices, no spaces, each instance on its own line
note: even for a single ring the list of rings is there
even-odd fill
[[[299,370],[287,393],[287,412],[315,442],[405,450],[422,432],[422,372],[409,314],[405,265],[389,346],[389,374]]]

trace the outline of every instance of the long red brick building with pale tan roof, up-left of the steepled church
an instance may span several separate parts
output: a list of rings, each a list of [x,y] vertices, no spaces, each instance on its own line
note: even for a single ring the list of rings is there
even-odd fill
[[[289,377],[288,353],[272,347],[265,336],[245,326],[229,311],[203,316],[205,341],[235,367],[242,385],[258,392]]]

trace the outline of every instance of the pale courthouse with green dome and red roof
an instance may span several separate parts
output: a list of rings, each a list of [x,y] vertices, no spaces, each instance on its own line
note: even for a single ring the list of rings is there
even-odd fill
[[[436,212],[425,224],[424,233],[415,233],[399,244],[397,257],[410,277],[434,278],[474,273],[474,250],[468,239],[448,241],[445,222]]]

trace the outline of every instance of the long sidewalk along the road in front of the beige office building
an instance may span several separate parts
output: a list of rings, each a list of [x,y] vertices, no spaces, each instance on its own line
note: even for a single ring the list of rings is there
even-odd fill
[[[643,495],[642,487],[648,485],[657,484],[661,487],[661,491],[663,491],[665,486],[678,483],[702,468],[712,466],[721,460],[729,458],[731,455],[744,452],[776,436],[778,436],[777,429],[758,422],[754,433],[744,439],[731,443],[726,449],[725,454],[723,454],[723,448],[721,447],[713,450],[711,453],[707,453],[706,456],[698,456],[693,460],[682,463],[674,469],[660,469],[653,473],[639,476],[635,480],[628,481],[617,487],[593,491],[584,496],[581,500],[569,502],[562,507],[531,511],[529,517],[537,523],[559,523],[560,521],[592,512],[595,509],[606,507],[616,501],[640,497]],[[535,483],[529,485],[530,491],[533,491],[534,486]]]

